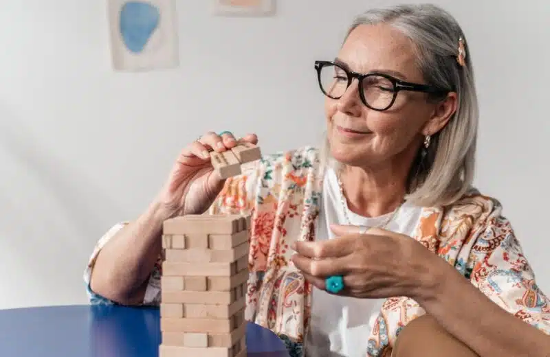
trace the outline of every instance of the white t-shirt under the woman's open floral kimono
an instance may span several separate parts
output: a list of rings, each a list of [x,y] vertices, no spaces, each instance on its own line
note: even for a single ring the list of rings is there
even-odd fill
[[[347,224],[340,200],[336,173],[327,168],[322,188],[322,207],[318,218],[316,240],[332,239],[330,224]],[[351,223],[369,227],[380,226],[388,216],[366,218],[346,207]],[[401,206],[386,229],[406,235],[413,234],[421,208],[408,203]],[[388,214],[391,215],[391,214]],[[313,287],[311,321],[306,336],[308,357],[364,357],[373,323],[384,299],[357,299],[330,295]]]

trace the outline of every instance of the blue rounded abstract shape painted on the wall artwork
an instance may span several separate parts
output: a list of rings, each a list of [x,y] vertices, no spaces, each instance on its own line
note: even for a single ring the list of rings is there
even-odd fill
[[[129,1],[120,9],[120,35],[135,54],[143,51],[160,22],[160,12],[148,1]]]

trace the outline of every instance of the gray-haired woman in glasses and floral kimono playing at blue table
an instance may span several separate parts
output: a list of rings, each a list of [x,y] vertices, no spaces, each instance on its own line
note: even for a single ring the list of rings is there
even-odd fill
[[[159,303],[167,218],[252,214],[246,318],[293,355],[550,356],[549,300],[498,201],[471,186],[478,106],[452,16],[365,12],[315,69],[324,148],[224,181],[209,151],[238,140],[190,143],[151,206],[98,243],[92,303]]]

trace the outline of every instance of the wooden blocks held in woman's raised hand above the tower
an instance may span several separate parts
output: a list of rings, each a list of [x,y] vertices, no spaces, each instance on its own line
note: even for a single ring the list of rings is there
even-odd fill
[[[241,165],[261,159],[260,148],[253,143],[239,143],[231,150],[210,152],[210,160],[214,170],[223,179],[241,174]]]

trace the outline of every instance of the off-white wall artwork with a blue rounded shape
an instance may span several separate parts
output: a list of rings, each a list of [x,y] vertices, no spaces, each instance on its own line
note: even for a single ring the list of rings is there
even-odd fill
[[[175,0],[107,0],[111,60],[117,71],[179,65]]]

